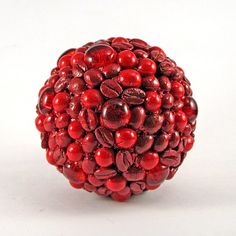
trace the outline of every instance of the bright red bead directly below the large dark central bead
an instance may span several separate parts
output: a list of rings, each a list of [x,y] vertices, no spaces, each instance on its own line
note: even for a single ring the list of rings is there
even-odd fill
[[[116,131],[116,145],[120,148],[131,148],[137,141],[137,134],[129,128],[122,128]]]

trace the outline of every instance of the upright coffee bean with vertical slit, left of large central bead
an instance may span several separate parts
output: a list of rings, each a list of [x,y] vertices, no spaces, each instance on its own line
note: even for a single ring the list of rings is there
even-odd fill
[[[79,121],[86,131],[92,131],[98,124],[96,113],[92,109],[83,109],[79,113]]]

